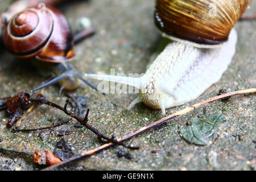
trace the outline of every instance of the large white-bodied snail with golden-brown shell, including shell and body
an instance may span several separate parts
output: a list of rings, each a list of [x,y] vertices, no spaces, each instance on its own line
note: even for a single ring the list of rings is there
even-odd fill
[[[155,24],[174,40],[139,78],[85,74],[84,78],[135,86],[138,102],[166,109],[195,100],[220,80],[236,51],[234,24],[250,0],[157,0]]]

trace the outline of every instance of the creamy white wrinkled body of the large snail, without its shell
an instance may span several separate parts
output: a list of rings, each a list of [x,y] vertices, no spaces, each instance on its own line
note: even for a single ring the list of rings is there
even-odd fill
[[[195,100],[210,85],[220,80],[236,51],[236,30],[229,41],[219,48],[202,49],[189,44],[172,42],[139,78],[85,74],[85,78],[114,81],[139,88],[138,102],[153,109],[165,110]]]

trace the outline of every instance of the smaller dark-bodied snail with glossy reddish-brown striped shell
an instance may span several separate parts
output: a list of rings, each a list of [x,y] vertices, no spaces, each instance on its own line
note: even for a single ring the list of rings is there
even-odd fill
[[[38,6],[24,9],[28,5],[39,2],[54,5],[60,1],[16,2],[6,13],[5,26],[2,31],[3,44],[12,55],[19,59],[35,58],[40,60],[32,60],[32,63],[39,67],[41,72],[48,71],[56,76],[31,92],[57,82],[59,82],[61,90],[75,90],[81,81],[97,90],[68,63],[75,59],[75,53],[73,51],[73,35],[65,16],[60,11],[46,5],[43,10]],[[16,13],[17,9],[14,7],[22,9],[22,11]],[[10,20],[9,17],[11,17]]]

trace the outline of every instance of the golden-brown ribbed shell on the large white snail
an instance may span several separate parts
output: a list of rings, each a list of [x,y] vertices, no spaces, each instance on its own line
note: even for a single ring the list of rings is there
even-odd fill
[[[172,39],[198,45],[228,40],[251,0],[156,0],[155,24]]]

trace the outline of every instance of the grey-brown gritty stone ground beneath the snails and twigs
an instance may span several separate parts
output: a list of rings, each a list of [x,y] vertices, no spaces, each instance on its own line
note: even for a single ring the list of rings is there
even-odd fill
[[[1,10],[6,6],[4,2],[7,1],[0,1]],[[96,35],[75,46],[77,59],[72,64],[77,71],[109,73],[110,68],[115,68],[116,73],[145,72],[146,64],[160,40],[152,18],[154,4],[153,0],[101,0],[74,1],[61,6],[60,10],[67,15],[72,27],[75,27],[77,18],[88,16],[93,27],[97,29]],[[256,14],[255,1],[246,14]],[[238,44],[232,64],[221,80],[202,94],[198,101],[216,96],[220,89],[235,91],[256,86],[256,22],[238,22],[236,30]],[[4,48],[1,49],[1,97],[13,96],[20,91],[28,92],[44,80],[46,78],[40,76],[28,62],[15,59]],[[93,83],[96,84],[97,81]],[[49,86],[43,93],[48,100],[64,105],[66,97],[59,94],[59,86]],[[125,108],[134,100],[136,94],[109,94],[108,97],[104,97],[88,86],[79,88],[73,94],[89,98],[89,123],[109,136],[115,134],[116,137],[121,137],[162,118],[160,110],[148,109],[143,104],[138,104],[134,109],[127,111]],[[198,101],[168,109],[167,114]],[[255,96],[250,94],[233,97],[228,101],[214,102],[196,110],[198,115],[216,112],[223,113],[228,120],[209,138],[207,146],[188,144],[179,136],[180,127],[185,125],[190,117],[190,114],[186,114],[127,142],[141,147],[139,150],[131,151],[115,146],[59,169],[255,170]],[[56,118],[67,118],[67,115],[48,106],[39,106],[24,118],[20,127],[49,126]],[[40,166],[32,164],[34,151],[53,150],[61,138],[72,145],[75,154],[100,146],[96,136],[90,131],[73,127],[75,121],[64,126],[64,130],[71,131],[68,135],[61,137],[56,132],[49,135],[44,133],[46,137],[42,140],[39,138],[42,132],[12,133],[6,127],[7,119],[5,112],[2,111],[2,170],[40,169]],[[119,150],[129,151],[133,159],[118,158]],[[162,152],[155,154],[153,150]]]

